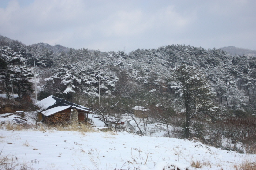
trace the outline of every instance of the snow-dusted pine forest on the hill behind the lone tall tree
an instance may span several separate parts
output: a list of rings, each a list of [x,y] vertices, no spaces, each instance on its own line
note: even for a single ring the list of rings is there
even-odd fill
[[[173,87],[173,68],[186,64],[197,67],[200,71],[198,74],[206,75],[209,85],[216,92],[213,101],[223,110],[256,110],[256,57],[232,55],[220,49],[206,50],[189,45],[137,49],[129,54],[85,48],[77,50],[45,43],[26,46],[3,36],[0,36],[0,52],[0,88],[4,92],[10,91],[7,85],[10,79],[3,79],[7,76],[5,69],[7,65],[18,65],[12,62],[15,57],[24,61],[20,62],[20,68],[24,69],[33,67],[35,61],[41,98],[55,94],[67,100],[86,100],[88,103],[88,100],[95,100],[98,96],[100,76],[103,97],[114,96],[122,98],[123,103],[129,100],[136,105],[157,104],[165,99],[175,103],[179,95]],[[24,79],[33,77],[28,72],[33,74],[32,69],[26,70]],[[32,88],[30,86],[19,90],[18,80],[13,84],[20,98]],[[178,99],[175,105],[178,108]]]

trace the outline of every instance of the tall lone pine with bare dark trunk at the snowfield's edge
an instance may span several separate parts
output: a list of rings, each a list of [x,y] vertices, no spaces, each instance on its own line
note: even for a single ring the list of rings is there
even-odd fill
[[[206,76],[196,67],[182,64],[173,69],[172,87],[182,99],[185,107],[185,137],[189,138],[190,120],[197,114],[215,112],[217,107],[211,99],[215,92],[209,86]]]

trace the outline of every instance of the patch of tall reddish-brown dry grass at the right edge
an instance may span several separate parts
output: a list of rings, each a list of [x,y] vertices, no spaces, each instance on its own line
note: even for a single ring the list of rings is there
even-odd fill
[[[207,127],[209,133],[207,144],[239,153],[245,151],[256,154],[256,118],[226,118],[209,123]],[[243,148],[240,147],[241,143]]]

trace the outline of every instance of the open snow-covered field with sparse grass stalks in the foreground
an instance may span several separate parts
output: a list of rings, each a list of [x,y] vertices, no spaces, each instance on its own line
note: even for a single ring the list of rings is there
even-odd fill
[[[0,149],[1,156],[8,155],[36,170],[163,170],[168,163],[181,169],[192,161],[199,161],[202,170],[235,170],[235,164],[256,160],[256,155],[216,149],[200,142],[127,132],[1,129]]]

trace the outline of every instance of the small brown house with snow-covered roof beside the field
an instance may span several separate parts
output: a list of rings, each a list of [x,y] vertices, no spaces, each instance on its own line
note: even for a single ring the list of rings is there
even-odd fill
[[[57,98],[53,95],[37,102],[36,105],[42,109],[38,113],[38,121],[48,124],[65,123],[72,119],[71,111],[75,111],[78,122],[87,122],[88,113],[93,113],[89,108],[71,103],[67,100]]]

